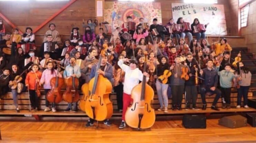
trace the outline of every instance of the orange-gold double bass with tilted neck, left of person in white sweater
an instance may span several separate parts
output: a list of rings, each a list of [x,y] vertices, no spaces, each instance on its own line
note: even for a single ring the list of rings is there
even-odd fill
[[[106,50],[101,51],[96,71],[100,69],[102,56]],[[96,72],[95,77],[89,82],[89,98],[85,101],[85,112],[88,117],[97,121],[103,121],[111,118],[113,114],[113,105],[109,99],[112,91],[111,82],[103,75]]]

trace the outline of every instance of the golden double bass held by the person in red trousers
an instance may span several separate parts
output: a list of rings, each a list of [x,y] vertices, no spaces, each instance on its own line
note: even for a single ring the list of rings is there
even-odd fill
[[[144,71],[146,71],[144,63]],[[133,103],[125,113],[126,124],[132,128],[146,129],[155,123],[155,111],[151,108],[150,102],[154,98],[154,90],[146,83],[146,76],[140,84],[131,91]]]

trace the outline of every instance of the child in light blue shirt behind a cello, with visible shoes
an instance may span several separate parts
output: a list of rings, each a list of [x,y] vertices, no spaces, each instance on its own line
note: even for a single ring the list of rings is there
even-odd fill
[[[73,69],[74,69],[74,73],[73,73]],[[66,66],[64,72],[63,72],[63,77],[67,78],[67,77],[76,77],[76,78],[80,78],[81,76],[81,71],[80,71],[80,67],[78,65],[76,65],[76,58],[75,57],[71,57],[70,58],[70,65]],[[66,108],[65,111],[70,111],[72,104],[74,105],[73,111],[76,112],[77,111],[77,103],[68,103],[68,107]]]

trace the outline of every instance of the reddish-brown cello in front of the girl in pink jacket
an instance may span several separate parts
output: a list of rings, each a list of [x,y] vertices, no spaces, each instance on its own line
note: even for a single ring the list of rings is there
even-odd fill
[[[53,77],[50,81],[52,89],[47,93],[46,98],[49,102],[55,104],[62,101],[61,87],[64,84],[64,79],[59,77],[60,64],[58,63],[58,72],[56,77]]]

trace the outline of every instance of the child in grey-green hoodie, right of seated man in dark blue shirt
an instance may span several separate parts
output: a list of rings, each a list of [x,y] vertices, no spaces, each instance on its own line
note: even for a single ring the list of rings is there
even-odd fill
[[[223,109],[225,108],[230,109],[230,95],[231,95],[232,81],[236,83],[234,70],[232,70],[231,67],[232,65],[228,63],[225,65],[224,70],[218,72],[221,97],[224,97],[224,100],[226,102],[226,103],[222,103]]]

